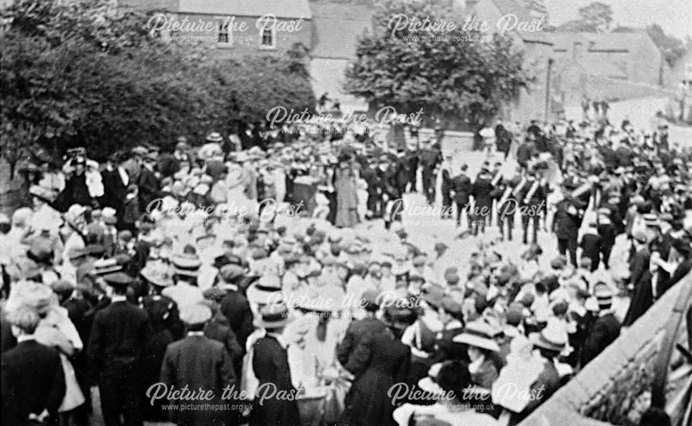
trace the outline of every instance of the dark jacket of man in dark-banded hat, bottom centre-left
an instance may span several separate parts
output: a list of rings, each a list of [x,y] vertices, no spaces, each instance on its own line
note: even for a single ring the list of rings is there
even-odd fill
[[[291,383],[291,369],[286,349],[273,336],[257,340],[253,349],[253,371],[259,381],[257,396],[265,398],[262,404],[255,401],[250,425],[299,426],[300,412],[295,401],[297,391]],[[285,394],[286,397],[279,398],[281,394]]]

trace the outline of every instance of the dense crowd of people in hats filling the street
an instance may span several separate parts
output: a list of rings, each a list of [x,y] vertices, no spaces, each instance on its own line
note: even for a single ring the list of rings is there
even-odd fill
[[[0,217],[3,424],[89,425],[98,387],[107,426],[516,425],[689,273],[692,153],[627,123],[491,130],[516,172],[326,131],[37,166]],[[419,188],[469,262],[410,241]]]

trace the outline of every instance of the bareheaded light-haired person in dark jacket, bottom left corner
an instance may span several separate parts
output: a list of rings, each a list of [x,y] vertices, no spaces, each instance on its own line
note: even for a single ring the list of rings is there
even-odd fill
[[[28,309],[8,313],[17,346],[2,354],[2,424],[29,425],[29,416],[55,416],[65,396],[58,352],[34,339],[39,316]]]

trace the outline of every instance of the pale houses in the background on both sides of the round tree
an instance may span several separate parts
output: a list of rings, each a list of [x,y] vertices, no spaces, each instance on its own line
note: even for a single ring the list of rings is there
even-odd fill
[[[669,66],[646,30],[612,34],[542,32],[541,17],[521,0],[449,0],[463,17],[488,23],[488,32],[509,28],[525,52],[534,81],[505,108],[510,119],[552,117],[560,104],[591,99],[628,99],[680,85],[688,71]],[[150,26],[172,41],[203,39],[218,54],[283,55],[295,43],[309,50],[317,97],[328,93],[344,109],[364,109],[343,93],[344,71],[355,57],[358,36],[372,27],[374,9],[362,4],[309,0],[120,0],[118,6],[161,10]],[[502,23],[502,25],[501,25]],[[546,114],[547,110],[547,114]]]

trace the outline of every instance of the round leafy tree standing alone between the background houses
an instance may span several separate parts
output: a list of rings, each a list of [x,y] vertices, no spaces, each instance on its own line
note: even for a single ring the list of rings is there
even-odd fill
[[[399,27],[390,19],[397,16],[434,22],[453,17],[458,24],[444,32],[408,27],[392,32]],[[518,94],[528,77],[511,37],[484,41],[479,33],[462,30],[461,22],[444,6],[383,2],[372,33],[358,41],[345,89],[374,109],[392,106],[397,113],[411,114],[423,108],[426,117],[464,117],[471,128],[479,128],[502,101]]]

